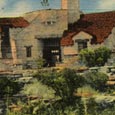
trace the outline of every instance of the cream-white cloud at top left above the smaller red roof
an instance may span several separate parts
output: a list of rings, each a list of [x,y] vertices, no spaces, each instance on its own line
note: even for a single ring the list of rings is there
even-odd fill
[[[7,3],[5,0],[4,2],[0,1],[0,7],[4,7]],[[2,5],[1,5],[2,3]],[[28,2],[28,0],[20,0],[17,1],[15,4],[12,5],[10,10],[2,10],[0,11],[1,17],[9,17],[9,16],[20,16],[32,9],[32,5]]]

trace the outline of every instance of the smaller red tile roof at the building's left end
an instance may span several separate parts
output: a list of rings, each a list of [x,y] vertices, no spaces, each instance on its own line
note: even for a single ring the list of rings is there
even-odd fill
[[[23,17],[0,18],[0,26],[2,25],[10,27],[26,27],[29,23]]]

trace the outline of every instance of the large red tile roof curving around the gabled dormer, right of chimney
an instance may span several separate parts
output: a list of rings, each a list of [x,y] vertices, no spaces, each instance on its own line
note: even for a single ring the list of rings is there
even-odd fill
[[[114,26],[115,11],[82,15],[81,19],[73,25],[72,32],[62,38],[61,45],[72,45],[73,35],[80,31],[92,35],[94,37],[92,43],[102,43],[110,35]]]

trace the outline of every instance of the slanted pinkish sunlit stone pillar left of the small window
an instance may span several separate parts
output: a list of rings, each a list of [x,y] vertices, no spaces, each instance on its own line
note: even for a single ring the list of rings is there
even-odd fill
[[[11,42],[11,51],[12,51],[12,58],[13,58],[13,63],[17,63],[17,50],[16,50],[16,41],[14,39],[10,40]]]

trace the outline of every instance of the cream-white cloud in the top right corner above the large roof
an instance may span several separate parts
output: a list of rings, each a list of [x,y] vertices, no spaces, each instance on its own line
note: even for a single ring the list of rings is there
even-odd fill
[[[99,10],[115,10],[115,0],[99,0],[97,9]]]

